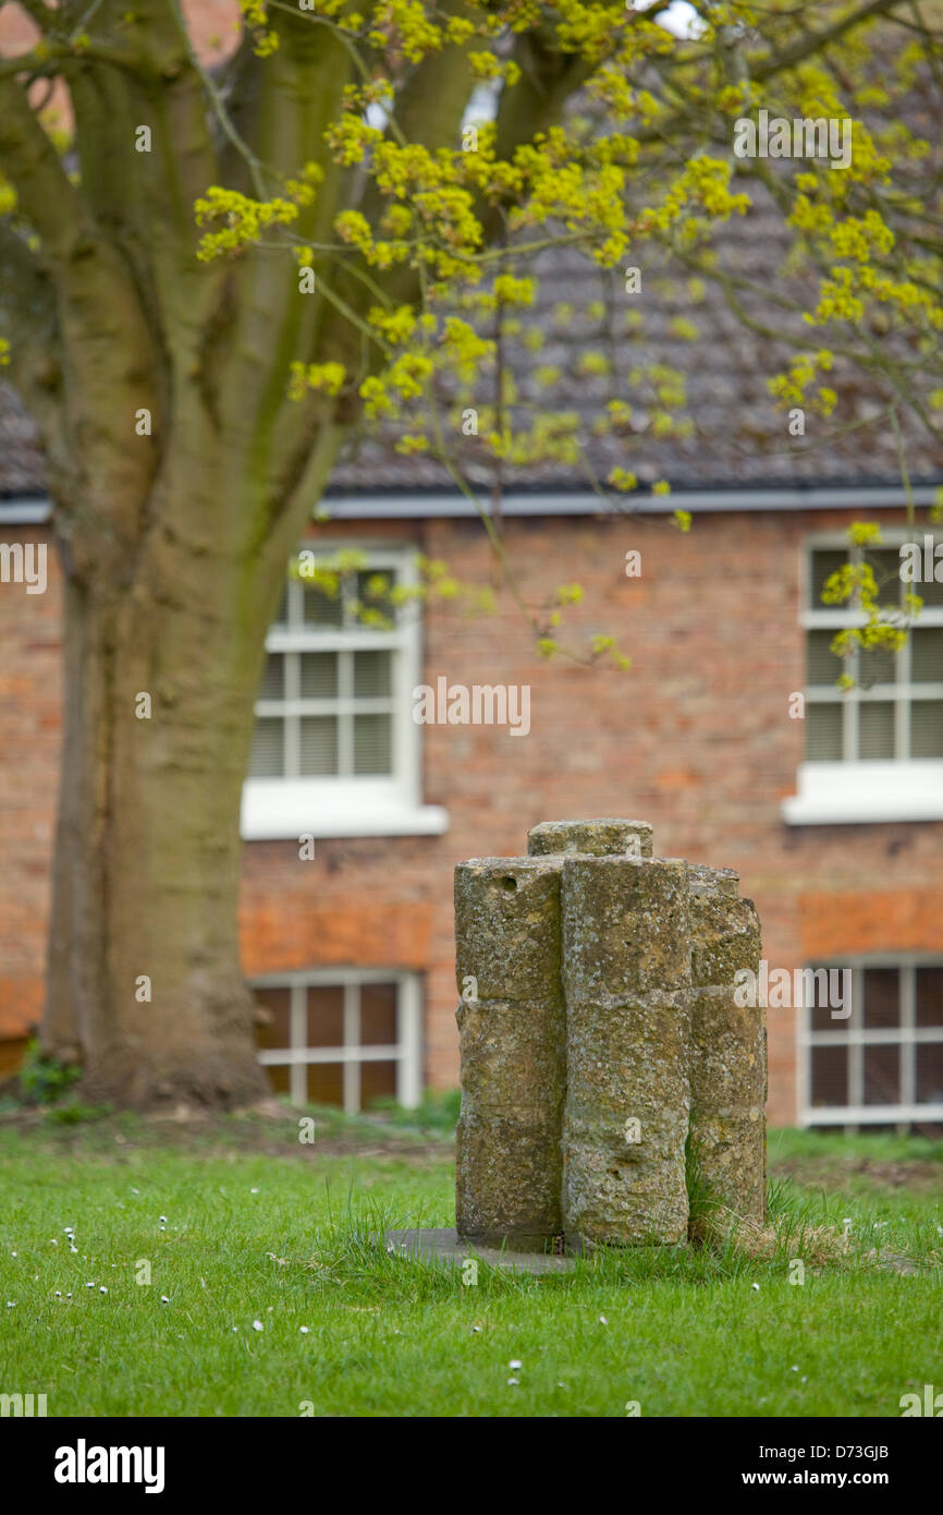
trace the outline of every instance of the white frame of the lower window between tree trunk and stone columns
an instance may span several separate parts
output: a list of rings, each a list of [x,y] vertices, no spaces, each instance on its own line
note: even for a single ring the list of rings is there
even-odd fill
[[[360,988],[369,983],[397,985],[397,1041],[392,1045],[360,1045]],[[309,1047],[306,1041],[306,991],[344,988],[344,1045]],[[397,1100],[407,1110],[422,1100],[422,989],[419,974],[397,968],[310,968],[304,973],[269,973],[254,977],[253,989],[289,989],[291,1047],[259,1051],[263,1068],[291,1070],[289,1098],[307,1104],[307,1067],[316,1062],[344,1065],[344,1110],[360,1109],[360,1067],[365,1062],[397,1064]]]

